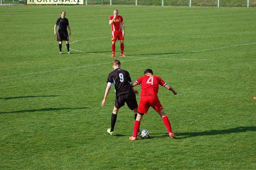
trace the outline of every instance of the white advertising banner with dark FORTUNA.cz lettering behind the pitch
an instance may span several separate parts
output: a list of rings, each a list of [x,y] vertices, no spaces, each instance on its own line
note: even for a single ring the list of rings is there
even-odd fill
[[[84,4],[84,0],[27,0],[27,4]]]

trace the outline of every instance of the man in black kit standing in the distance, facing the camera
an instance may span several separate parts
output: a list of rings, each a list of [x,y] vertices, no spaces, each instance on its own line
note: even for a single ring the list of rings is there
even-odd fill
[[[58,35],[57,35],[57,41],[59,41],[59,49],[60,49],[60,54],[62,54],[61,48],[62,48],[62,41],[64,40],[67,45],[68,49],[68,54],[71,54],[69,51],[69,37],[68,37],[68,30],[69,30],[69,35],[71,35],[71,29],[68,23],[68,19],[65,18],[66,12],[62,11],[61,12],[61,17],[57,19],[56,24],[54,25],[54,34],[57,35],[56,33],[56,27],[58,29]],[[68,27],[68,30],[67,30]]]

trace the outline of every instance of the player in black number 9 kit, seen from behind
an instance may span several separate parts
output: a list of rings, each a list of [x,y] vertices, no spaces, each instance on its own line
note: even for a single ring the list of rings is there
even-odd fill
[[[108,75],[108,80],[107,80],[108,85],[105,91],[104,99],[101,103],[101,106],[103,107],[113,83],[116,91],[116,99],[115,99],[115,106],[113,109],[113,113],[111,116],[111,128],[107,130],[107,132],[110,135],[113,135],[114,127],[116,124],[117,112],[122,106],[124,106],[125,103],[129,107],[129,109],[134,111],[134,119],[136,119],[137,113],[138,113],[137,111],[138,103],[136,100],[135,93],[136,94],[139,93],[137,90],[132,88],[131,86],[132,80],[128,71],[122,70],[120,68],[121,66],[120,61],[115,59],[112,61],[112,65],[115,70],[109,73]]]

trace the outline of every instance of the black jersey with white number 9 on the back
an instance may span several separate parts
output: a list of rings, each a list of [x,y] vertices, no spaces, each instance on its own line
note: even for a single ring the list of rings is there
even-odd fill
[[[109,73],[107,83],[114,83],[116,96],[132,92],[131,77],[128,71],[116,68]]]

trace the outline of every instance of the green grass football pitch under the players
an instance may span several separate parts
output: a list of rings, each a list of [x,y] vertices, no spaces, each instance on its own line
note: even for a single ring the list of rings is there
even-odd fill
[[[129,141],[127,106],[107,133],[114,8],[126,26],[122,68],[132,81],[151,68],[178,92],[158,93],[176,139],[152,108],[148,139]],[[63,10],[71,55],[53,34]],[[0,16],[1,169],[256,168],[255,8],[5,6]]]

